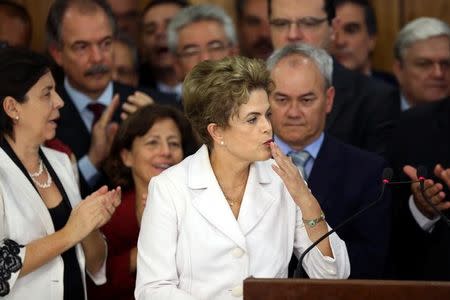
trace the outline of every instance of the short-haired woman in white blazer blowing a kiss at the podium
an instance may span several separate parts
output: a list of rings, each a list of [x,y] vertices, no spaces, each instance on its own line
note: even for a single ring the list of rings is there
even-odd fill
[[[270,86],[265,65],[243,57],[205,61],[188,74],[185,111],[205,145],[149,184],[137,299],[240,298],[245,278],[287,277],[293,251],[330,230],[272,141]],[[330,235],[303,266],[311,278],[347,278],[345,243]]]

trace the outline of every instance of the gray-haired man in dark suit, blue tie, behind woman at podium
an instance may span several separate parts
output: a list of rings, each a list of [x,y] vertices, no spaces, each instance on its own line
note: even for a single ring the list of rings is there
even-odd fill
[[[304,173],[331,227],[380,194],[385,161],[324,133],[333,106],[332,59],[307,44],[288,45],[268,59],[275,89],[269,99],[275,142]],[[303,158],[299,161],[299,157]],[[350,278],[381,278],[390,233],[390,197],[338,230],[348,249]],[[307,224],[305,224],[307,226]]]

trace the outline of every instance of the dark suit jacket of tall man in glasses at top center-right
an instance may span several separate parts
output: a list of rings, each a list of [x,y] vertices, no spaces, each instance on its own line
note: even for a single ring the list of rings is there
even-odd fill
[[[386,155],[400,114],[395,89],[336,62],[333,68],[336,96],[326,131],[345,143]]]

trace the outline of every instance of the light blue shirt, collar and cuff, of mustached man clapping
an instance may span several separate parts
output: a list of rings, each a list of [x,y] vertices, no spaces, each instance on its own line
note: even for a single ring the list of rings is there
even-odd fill
[[[113,97],[112,81],[108,83],[106,89],[103,91],[100,97],[94,100],[71,86],[67,77],[64,78],[64,87],[66,88],[67,94],[72,99],[72,102],[75,105],[76,109],[80,113],[81,119],[83,120],[86,129],[89,131],[89,133],[91,133],[91,125],[92,121],[94,120],[94,113],[89,110],[87,106],[88,104],[92,103],[92,101],[96,101],[97,103],[108,106],[111,103]],[[80,169],[81,174],[83,175],[89,186],[95,186],[101,174],[89,160],[87,153],[78,160],[78,168]]]

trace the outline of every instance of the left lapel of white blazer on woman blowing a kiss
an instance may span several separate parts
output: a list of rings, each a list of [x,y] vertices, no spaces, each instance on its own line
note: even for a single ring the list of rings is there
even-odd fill
[[[209,162],[205,145],[194,154],[189,165],[188,186],[195,196],[192,204],[195,209],[215,228],[230,238],[239,247],[247,250],[245,237],[231,211],[216,180]]]

